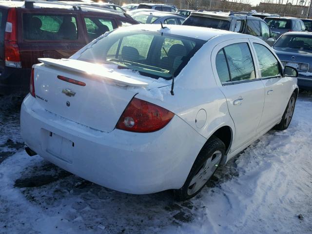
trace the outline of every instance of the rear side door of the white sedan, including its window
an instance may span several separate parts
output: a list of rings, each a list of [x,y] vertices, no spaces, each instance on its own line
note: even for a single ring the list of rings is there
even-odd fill
[[[264,106],[264,85],[258,78],[248,39],[228,40],[212,53],[212,66],[235,124],[232,149],[251,142]]]

